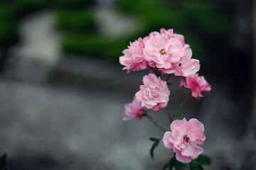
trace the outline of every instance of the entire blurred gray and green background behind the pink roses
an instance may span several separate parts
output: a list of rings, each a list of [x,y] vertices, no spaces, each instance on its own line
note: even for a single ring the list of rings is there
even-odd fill
[[[148,71],[118,60],[129,41],[174,28],[212,85],[182,109],[205,125],[205,169],[256,169],[255,21],[253,0],[1,0],[0,154],[9,169],[161,169],[172,152],[160,144],[152,160],[149,137],[162,132],[122,121]],[[171,112],[186,96],[178,79]]]

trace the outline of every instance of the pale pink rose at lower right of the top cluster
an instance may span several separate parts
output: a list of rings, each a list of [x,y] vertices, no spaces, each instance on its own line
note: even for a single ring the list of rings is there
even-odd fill
[[[159,69],[163,74],[172,74],[174,73],[176,76],[189,77],[196,74],[196,72],[200,69],[199,60],[191,59],[192,51],[188,48],[188,45],[185,45],[186,48],[183,48],[183,55],[181,60],[177,63],[173,63],[171,68]]]

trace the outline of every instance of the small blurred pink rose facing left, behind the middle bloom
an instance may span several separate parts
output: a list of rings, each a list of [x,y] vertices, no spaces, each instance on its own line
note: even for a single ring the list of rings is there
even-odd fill
[[[142,107],[142,103],[137,101],[134,97],[132,103],[127,103],[125,105],[125,111],[122,113],[123,120],[130,120],[132,118],[137,117],[138,120],[141,120],[144,114],[144,108]]]

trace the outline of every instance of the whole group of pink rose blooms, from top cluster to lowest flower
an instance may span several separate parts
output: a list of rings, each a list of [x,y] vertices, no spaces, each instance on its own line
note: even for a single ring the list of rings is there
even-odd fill
[[[149,69],[155,73],[143,77],[143,85],[139,86],[134,100],[125,105],[123,120],[141,120],[147,109],[159,111],[167,107],[170,91],[166,82],[168,78],[164,81],[162,74],[186,77],[186,82],[181,79],[180,87],[189,89],[191,95],[197,99],[203,97],[202,91],[210,91],[210,84],[206,79],[196,74],[200,69],[199,61],[192,58],[192,50],[185,43],[183,35],[174,33],[172,29],[161,28],[160,32],[155,31],[145,38],[130,42],[123,54],[119,57],[119,62],[128,73],[140,69]],[[164,146],[174,149],[178,161],[191,162],[203,152],[197,146],[206,139],[203,130],[203,124],[196,119],[188,122],[185,118],[174,120],[171,131],[164,134]]]

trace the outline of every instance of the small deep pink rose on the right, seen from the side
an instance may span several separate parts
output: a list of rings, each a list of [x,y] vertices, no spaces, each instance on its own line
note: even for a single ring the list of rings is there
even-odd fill
[[[201,94],[202,91],[210,91],[210,84],[206,81],[206,79],[201,76],[199,77],[198,74],[195,74],[191,77],[186,77],[186,83],[181,79],[180,87],[186,87],[187,89],[191,89],[192,96],[198,99],[201,99],[203,95]]]

